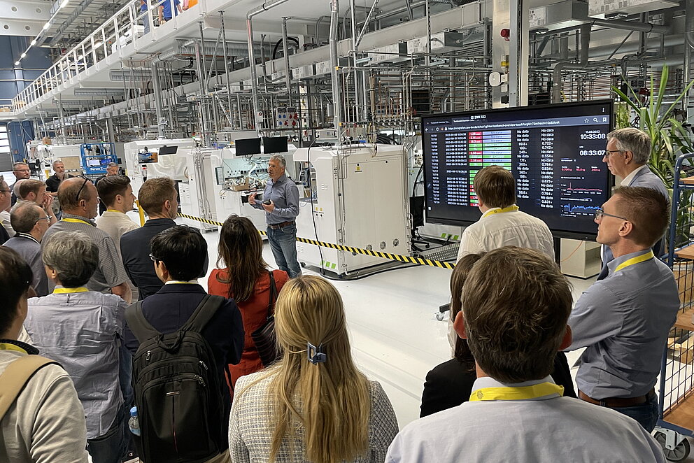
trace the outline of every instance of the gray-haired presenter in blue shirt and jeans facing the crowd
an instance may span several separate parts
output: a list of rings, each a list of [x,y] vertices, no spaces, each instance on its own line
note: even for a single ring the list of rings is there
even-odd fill
[[[265,211],[267,241],[280,270],[290,278],[302,274],[297,261],[297,215],[299,215],[299,189],[294,180],[285,175],[287,162],[281,155],[273,155],[267,164],[270,180],[265,185],[262,202],[253,193],[248,204]]]

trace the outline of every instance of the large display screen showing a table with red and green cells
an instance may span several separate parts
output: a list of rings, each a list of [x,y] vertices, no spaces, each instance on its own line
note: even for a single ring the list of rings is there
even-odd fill
[[[595,238],[595,210],[611,189],[602,157],[612,117],[611,101],[422,117],[427,222],[479,220],[472,182],[496,164],[514,174],[520,211],[555,236]]]

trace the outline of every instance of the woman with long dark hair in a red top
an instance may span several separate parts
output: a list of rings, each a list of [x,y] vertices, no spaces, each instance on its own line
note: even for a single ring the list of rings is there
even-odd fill
[[[210,274],[208,292],[236,301],[246,331],[241,362],[229,365],[233,391],[237,379],[262,369],[260,355],[250,334],[267,320],[270,299],[270,276],[262,259],[262,239],[248,218],[230,215],[222,225],[217,266],[222,265],[224,269],[214,269]],[[279,292],[289,276],[282,270],[274,270],[272,274]]]

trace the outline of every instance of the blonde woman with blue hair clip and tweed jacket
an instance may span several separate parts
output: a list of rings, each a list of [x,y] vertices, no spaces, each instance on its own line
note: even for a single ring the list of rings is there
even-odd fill
[[[232,462],[383,462],[395,413],[352,360],[335,287],[316,276],[289,280],[275,322],[282,359],[236,383]]]

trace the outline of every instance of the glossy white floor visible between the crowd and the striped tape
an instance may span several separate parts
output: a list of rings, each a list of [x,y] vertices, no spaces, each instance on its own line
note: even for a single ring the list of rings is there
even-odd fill
[[[180,218],[177,222],[197,225]],[[219,234],[211,231],[204,236],[212,271],[218,257]],[[267,244],[263,257],[275,266]],[[318,275],[308,269],[304,273]],[[451,358],[446,321],[435,317],[439,306],[449,300],[450,276],[450,270],[416,266],[361,280],[332,281],[344,300],[357,365],[369,379],[383,385],[401,428],[419,418],[427,372]],[[595,279],[570,280],[576,299]],[[207,279],[200,283],[206,287]],[[567,357],[571,365],[579,352],[570,352]]]

